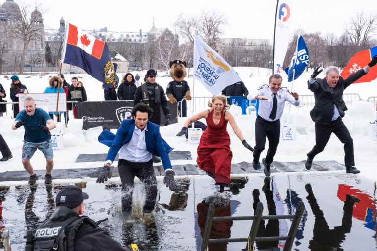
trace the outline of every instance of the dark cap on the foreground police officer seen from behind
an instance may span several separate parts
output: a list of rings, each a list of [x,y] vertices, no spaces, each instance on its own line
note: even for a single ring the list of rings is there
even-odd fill
[[[65,186],[56,196],[56,206],[65,206],[70,209],[78,207],[89,195],[82,192],[77,186]]]

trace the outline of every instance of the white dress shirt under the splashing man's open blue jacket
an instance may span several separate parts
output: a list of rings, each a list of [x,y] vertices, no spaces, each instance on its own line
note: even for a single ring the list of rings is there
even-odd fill
[[[132,134],[130,142],[123,145],[119,151],[119,159],[124,159],[130,162],[148,162],[152,159],[152,153],[147,151],[147,144],[145,143],[145,131],[140,130],[135,125],[134,132]],[[111,163],[110,160],[107,160],[105,164]]]

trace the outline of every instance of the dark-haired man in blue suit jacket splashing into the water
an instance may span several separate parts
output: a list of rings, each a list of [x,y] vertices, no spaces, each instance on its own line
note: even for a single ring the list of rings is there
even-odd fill
[[[161,137],[160,126],[149,122],[153,110],[144,103],[134,106],[134,119],[123,120],[116,135],[104,130],[98,140],[110,146],[106,162],[97,183],[111,178],[111,164],[119,151],[118,171],[122,182],[122,212],[130,213],[132,208],[132,189],[134,177],[137,176],[145,185],[146,201],[144,213],[155,208],[157,198],[157,181],[153,171],[152,155],[160,156],[165,169],[163,182],[170,190],[176,189],[174,171],[168,153],[173,150]]]

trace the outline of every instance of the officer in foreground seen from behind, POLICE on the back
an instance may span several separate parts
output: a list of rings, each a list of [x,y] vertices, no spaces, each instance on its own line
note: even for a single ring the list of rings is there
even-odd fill
[[[89,196],[77,186],[66,186],[56,196],[56,210],[38,226],[32,241],[27,233],[26,251],[129,251],[113,240],[84,213]],[[34,247],[33,247],[34,246]],[[33,248],[32,248],[33,247]]]

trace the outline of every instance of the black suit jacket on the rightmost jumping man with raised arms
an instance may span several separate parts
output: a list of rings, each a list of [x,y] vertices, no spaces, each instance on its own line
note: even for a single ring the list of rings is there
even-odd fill
[[[317,78],[313,84],[308,81],[308,88],[314,92],[315,104],[310,111],[310,117],[318,124],[330,125],[332,116],[334,115],[334,104],[339,110],[340,117],[344,117],[347,106],[343,101],[343,91],[350,84],[365,75],[363,69],[351,74],[346,79],[339,76],[339,81],[335,88],[330,88],[326,78]]]

